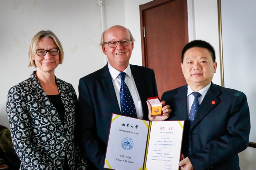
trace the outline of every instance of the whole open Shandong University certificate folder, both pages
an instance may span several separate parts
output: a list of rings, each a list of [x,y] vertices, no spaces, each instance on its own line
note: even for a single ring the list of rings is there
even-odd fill
[[[112,114],[105,169],[178,170],[184,121],[147,121]]]

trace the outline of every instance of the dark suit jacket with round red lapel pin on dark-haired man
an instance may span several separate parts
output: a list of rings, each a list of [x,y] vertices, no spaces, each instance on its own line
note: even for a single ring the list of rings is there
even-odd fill
[[[195,170],[239,170],[238,153],[249,142],[250,116],[244,93],[211,83],[188,129],[187,85],[163,93],[170,105],[169,120],[185,120],[182,153],[187,156],[188,136]],[[212,101],[215,101],[212,102]]]

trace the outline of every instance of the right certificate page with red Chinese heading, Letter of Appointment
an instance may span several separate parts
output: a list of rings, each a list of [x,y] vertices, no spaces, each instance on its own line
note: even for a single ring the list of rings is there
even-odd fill
[[[184,121],[152,121],[147,170],[178,170]]]

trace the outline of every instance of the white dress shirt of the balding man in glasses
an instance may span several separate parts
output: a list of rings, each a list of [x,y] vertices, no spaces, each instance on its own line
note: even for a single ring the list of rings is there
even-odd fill
[[[116,98],[117,98],[119,108],[120,108],[120,112],[121,112],[121,105],[120,105],[121,78],[119,76],[119,74],[121,72],[118,71],[117,69],[115,69],[114,67],[112,67],[109,64],[109,62],[108,62],[108,68],[109,68],[109,72],[110,72],[110,75],[111,75],[111,78],[112,78],[112,82],[113,82],[114,89],[115,89],[115,92],[116,92]],[[136,109],[136,113],[137,113],[137,117],[138,117],[138,119],[143,119],[142,104],[141,104],[141,100],[140,100],[138,90],[136,88],[136,84],[135,84],[133,76],[132,76],[130,64],[127,66],[127,68],[124,70],[124,72],[126,73],[124,82],[128,86],[128,88],[131,92],[132,99],[133,99],[135,109]],[[147,114],[147,113],[145,113],[145,114]]]

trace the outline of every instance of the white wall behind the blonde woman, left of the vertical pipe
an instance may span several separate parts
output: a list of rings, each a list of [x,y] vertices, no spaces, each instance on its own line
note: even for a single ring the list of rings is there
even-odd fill
[[[98,0],[0,0],[0,124],[9,127],[5,103],[8,90],[27,79],[30,40],[52,30],[64,48],[56,76],[78,92],[79,78],[105,65],[99,46],[102,33]]]

